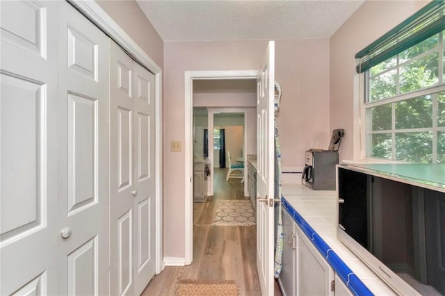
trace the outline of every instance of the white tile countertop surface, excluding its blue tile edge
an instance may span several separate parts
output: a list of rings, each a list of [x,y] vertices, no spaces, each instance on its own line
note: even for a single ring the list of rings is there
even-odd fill
[[[336,191],[312,190],[299,183],[284,183],[282,195],[374,295],[395,295],[393,290],[337,239]]]

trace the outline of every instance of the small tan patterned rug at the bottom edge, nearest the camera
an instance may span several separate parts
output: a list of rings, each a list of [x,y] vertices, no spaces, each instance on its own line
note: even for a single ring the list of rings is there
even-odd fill
[[[193,281],[180,280],[175,296],[237,296],[238,288],[234,281]]]

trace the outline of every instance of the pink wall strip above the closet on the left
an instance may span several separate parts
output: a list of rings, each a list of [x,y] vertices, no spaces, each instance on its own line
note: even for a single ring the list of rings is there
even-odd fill
[[[163,68],[163,41],[134,0],[96,0],[97,4]]]

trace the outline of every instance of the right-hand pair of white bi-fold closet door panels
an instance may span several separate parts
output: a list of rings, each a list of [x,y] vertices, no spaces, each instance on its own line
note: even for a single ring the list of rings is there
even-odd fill
[[[110,45],[111,293],[154,276],[154,75]]]

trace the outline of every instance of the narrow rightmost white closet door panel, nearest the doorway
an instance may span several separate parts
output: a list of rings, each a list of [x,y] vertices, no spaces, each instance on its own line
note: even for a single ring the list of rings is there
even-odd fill
[[[134,63],[134,294],[154,277],[154,74]]]

